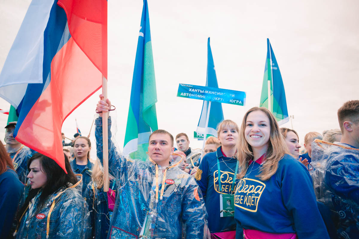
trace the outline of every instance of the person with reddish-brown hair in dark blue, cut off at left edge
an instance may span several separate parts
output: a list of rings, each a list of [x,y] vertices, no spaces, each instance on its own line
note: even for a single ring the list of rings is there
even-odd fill
[[[19,181],[13,163],[0,141],[0,238],[6,238],[18,209],[24,185]]]

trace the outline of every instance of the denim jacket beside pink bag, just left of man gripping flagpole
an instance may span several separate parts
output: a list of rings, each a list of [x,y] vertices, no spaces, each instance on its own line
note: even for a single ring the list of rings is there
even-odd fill
[[[111,185],[110,183],[110,187]],[[91,181],[87,185],[84,197],[90,211],[92,238],[106,239],[110,226],[107,192],[103,191],[103,187],[98,189],[95,182]]]

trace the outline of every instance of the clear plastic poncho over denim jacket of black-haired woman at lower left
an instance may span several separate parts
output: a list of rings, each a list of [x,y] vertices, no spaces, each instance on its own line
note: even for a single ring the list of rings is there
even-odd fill
[[[81,181],[71,187],[59,188],[46,199],[45,206],[38,210],[39,196],[42,192],[40,190],[29,202],[29,207],[20,220],[14,238],[90,238],[90,214],[87,203],[81,196],[82,176],[76,176]]]

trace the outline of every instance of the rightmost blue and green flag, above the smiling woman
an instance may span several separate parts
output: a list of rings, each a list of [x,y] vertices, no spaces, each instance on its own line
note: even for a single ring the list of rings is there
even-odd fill
[[[270,102],[270,104],[268,104],[268,102]],[[289,121],[282,76],[280,75],[279,66],[268,38],[267,58],[264,67],[262,94],[259,106],[269,109],[279,125]]]

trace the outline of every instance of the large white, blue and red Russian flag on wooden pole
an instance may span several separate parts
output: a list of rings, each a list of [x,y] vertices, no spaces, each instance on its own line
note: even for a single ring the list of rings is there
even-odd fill
[[[62,123],[102,76],[107,1],[33,0],[0,74],[0,97],[19,115],[15,138],[65,170]]]

